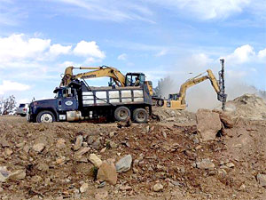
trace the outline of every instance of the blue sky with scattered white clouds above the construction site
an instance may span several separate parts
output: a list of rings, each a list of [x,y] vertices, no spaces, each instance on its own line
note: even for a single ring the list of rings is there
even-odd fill
[[[142,71],[154,86],[171,76],[179,85],[217,72],[222,57],[229,87],[266,89],[264,1],[0,0],[0,95],[20,102],[52,97],[69,65]]]

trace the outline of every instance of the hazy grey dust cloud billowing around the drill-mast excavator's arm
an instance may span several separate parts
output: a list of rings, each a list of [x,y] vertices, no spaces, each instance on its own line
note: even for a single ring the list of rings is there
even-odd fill
[[[215,77],[217,79],[219,78],[218,71],[221,70],[219,60],[207,60],[201,55],[200,57],[192,57],[189,60],[181,60],[179,63],[176,65],[176,71],[179,71],[178,76],[173,76],[176,72],[172,71],[172,75],[163,79],[167,81],[160,83],[161,97],[168,98],[169,93],[179,92],[181,84],[184,84],[188,78],[192,78],[206,71],[208,68],[206,66],[212,66],[209,68],[214,72]],[[182,68],[181,66],[183,66],[182,70],[180,70]],[[245,93],[259,95],[258,90],[254,86],[245,84],[243,80],[228,75],[226,73],[226,67],[225,65],[225,92],[228,94],[227,100],[233,100]],[[180,71],[183,71],[184,74],[180,75]],[[188,88],[185,100],[187,104],[186,109],[192,112],[197,111],[199,108],[222,108],[222,102],[217,100],[217,94],[209,80]]]

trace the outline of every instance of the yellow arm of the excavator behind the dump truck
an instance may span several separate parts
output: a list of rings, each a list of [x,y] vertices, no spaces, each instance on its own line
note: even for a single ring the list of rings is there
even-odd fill
[[[97,77],[111,77],[113,78],[113,81],[117,85],[125,86],[126,84],[126,77],[121,74],[121,72],[117,68],[111,68],[111,67],[80,67],[77,69],[94,69],[89,72],[80,73],[73,75],[73,69],[74,67],[68,67],[65,70],[65,74],[61,80],[60,86],[66,86],[70,84],[70,82],[74,79],[78,78],[97,78]]]

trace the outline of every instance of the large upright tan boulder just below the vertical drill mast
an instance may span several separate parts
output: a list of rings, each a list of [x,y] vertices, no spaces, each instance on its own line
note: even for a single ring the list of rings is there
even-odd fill
[[[199,109],[196,113],[197,130],[202,140],[215,140],[217,132],[222,129],[218,113],[208,109]]]

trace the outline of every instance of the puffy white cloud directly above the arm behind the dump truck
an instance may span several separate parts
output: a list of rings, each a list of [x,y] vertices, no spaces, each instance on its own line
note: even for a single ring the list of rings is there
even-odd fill
[[[74,47],[74,54],[81,56],[91,56],[99,59],[106,58],[105,52],[99,50],[98,45],[95,41],[86,42],[82,40]]]

